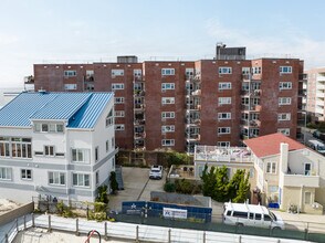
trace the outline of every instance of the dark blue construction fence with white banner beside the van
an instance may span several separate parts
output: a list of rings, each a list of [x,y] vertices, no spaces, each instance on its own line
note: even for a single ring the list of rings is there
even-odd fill
[[[164,218],[171,220],[186,220],[209,223],[212,209],[193,205],[181,205],[154,201],[125,201],[122,202],[122,213],[139,216]]]

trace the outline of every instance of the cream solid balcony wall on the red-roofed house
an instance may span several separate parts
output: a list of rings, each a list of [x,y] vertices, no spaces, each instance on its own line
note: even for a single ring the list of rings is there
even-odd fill
[[[283,175],[284,187],[319,188],[319,176]]]

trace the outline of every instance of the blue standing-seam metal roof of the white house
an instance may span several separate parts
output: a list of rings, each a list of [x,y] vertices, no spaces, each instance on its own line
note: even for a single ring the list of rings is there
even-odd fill
[[[93,128],[113,93],[21,93],[0,109],[0,126],[29,127],[32,119],[69,120]]]

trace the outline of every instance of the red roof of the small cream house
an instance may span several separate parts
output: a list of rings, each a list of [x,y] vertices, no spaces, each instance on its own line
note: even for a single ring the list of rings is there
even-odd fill
[[[244,140],[244,144],[260,158],[279,155],[281,142],[289,144],[289,151],[306,148],[301,142],[280,133]]]

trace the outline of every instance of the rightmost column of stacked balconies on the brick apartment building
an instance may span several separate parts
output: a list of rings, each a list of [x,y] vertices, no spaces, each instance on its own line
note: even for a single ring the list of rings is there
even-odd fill
[[[241,140],[260,135],[261,81],[250,73],[242,75],[241,87]]]

